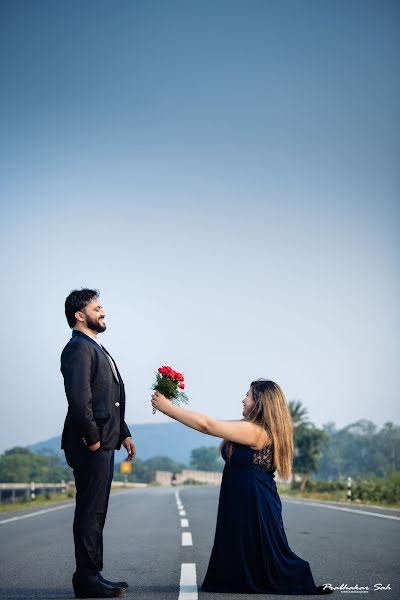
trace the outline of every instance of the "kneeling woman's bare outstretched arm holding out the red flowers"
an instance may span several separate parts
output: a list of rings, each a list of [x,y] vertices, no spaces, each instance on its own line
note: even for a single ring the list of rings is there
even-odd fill
[[[171,419],[175,419],[175,421],[179,421],[179,423],[201,433],[250,446],[257,450],[261,450],[268,443],[267,433],[255,423],[213,419],[207,415],[175,406],[160,392],[155,392],[152,395],[151,403],[154,408],[171,417]]]

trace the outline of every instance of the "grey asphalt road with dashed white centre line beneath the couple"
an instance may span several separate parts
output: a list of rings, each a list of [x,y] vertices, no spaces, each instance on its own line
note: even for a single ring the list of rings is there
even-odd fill
[[[103,575],[128,581],[126,600],[196,600],[195,586],[203,581],[214,538],[218,493],[217,487],[185,486],[113,494]],[[353,592],[350,597],[400,599],[400,511],[284,498],[282,502],[289,545],[309,561],[317,585],[369,586],[367,593]],[[74,503],[67,502],[34,510],[37,514],[29,517],[25,515],[32,511],[0,514],[1,599],[74,597],[73,509]],[[182,573],[183,563],[188,566]],[[374,591],[375,584],[391,589]],[[330,597],[349,598],[348,592],[343,594],[337,591]],[[200,600],[255,597],[277,598],[198,592]]]

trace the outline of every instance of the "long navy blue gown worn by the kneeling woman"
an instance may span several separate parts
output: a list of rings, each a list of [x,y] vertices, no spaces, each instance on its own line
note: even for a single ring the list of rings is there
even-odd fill
[[[226,461],[225,449],[222,456]],[[312,594],[310,565],[289,548],[274,481],[273,450],[234,444],[225,464],[217,527],[203,592]]]

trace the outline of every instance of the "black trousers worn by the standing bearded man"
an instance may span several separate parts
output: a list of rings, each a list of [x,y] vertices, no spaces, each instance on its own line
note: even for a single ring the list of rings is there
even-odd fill
[[[77,576],[95,575],[103,569],[103,528],[114,471],[114,450],[86,446],[64,448],[74,470],[76,506],[74,543]]]

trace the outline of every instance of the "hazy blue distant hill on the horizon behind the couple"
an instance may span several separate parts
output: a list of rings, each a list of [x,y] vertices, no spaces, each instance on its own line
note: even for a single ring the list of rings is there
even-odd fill
[[[169,456],[175,462],[189,464],[190,453],[200,446],[219,446],[221,440],[210,435],[204,435],[189,429],[181,423],[143,423],[129,425],[133,440],[136,444],[137,456],[147,460],[153,456]],[[60,448],[61,436],[56,436],[28,446],[32,452],[40,450],[54,450],[61,456],[64,452]],[[115,453],[116,462],[126,456],[124,449]]]

